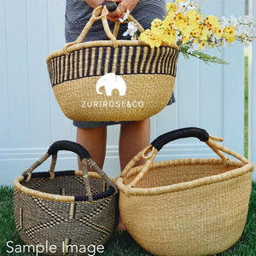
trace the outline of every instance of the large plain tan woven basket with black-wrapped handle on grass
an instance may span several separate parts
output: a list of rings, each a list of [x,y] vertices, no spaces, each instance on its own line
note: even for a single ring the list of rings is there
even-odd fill
[[[198,137],[220,159],[153,163],[163,145],[182,137]],[[247,220],[253,164],[215,140],[221,141],[199,128],[166,133],[138,153],[117,178],[120,216],[148,252],[212,255],[240,238]],[[134,167],[143,158],[146,163]]]

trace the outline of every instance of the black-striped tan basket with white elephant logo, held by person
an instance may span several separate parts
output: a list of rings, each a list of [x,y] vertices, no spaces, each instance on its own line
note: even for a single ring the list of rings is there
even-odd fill
[[[99,6],[76,41],[47,58],[55,98],[68,119],[79,121],[142,120],[166,107],[176,77],[178,48],[150,48],[139,40],[117,40],[108,9]],[[110,40],[84,42],[96,20]],[[131,15],[129,20],[137,23]]]

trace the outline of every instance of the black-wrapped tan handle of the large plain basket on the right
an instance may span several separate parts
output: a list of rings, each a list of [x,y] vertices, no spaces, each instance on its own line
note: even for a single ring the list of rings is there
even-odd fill
[[[129,188],[135,187],[136,184],[141,180],[141,178],[148,172],[148,170],[150,170],[156,154],[163,146],[177,139],[186,137],[196,137],[201,140],[201,142],[206,143],[223,160],[224,165],[229,165],[230,160],[226,155],[224,155],[224,153],[234,156],[243,164],[247,164],[249,162],[241,154],[238,154],[230,148],[225,148],[223,145],[216,143],[216,141],[222,142],[222,138],[212,137],[207,133],[207,131],[203,129],[189,127],[167,132],[160,137],[154,139],[154,141],[147,148],[144,148],[133,159],[131,159],[127,166],[125,166],[124,171],[119,174],[119,177],[127,177],[129,175],[129,172],[131,171],[131,168],[135,166],[139,160],[147,160],[146,163],[143,165],[141,172],[139,172],[137,176],[132,180],[132,182],[127,186]]]

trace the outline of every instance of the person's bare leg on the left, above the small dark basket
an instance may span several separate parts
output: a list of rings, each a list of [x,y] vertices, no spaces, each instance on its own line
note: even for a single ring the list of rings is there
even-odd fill
[[[107,126],[95,128],[77,128],[77,143],[88,150],[96,164],[103,167],[106,154]],[[79,170],[82,165],[79,160]],[[90,171],[90,170],[89,170]]]

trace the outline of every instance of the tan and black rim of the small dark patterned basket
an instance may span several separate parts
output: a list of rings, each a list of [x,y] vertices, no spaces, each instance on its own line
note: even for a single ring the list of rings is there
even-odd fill
[[[71,172],[73,172],[73,175],[72,175]],[[34,176],[37,176],[37,174],[47,174],[47,173],[49,173],[49,172],[34,172],[34,173],[32,173],[32,176],[33,176],[33,174],[34,174]],[[61,175],[63,173],[66,173],[66,175]],[[83,175],[84,175],[82,171],[61,171],[61,172],[55,172],[55,174],[56,174],[56,176],[59,176],[59,177],[61,177],[61,176],[83,177]],[[60,174],[60,175],[58,175],[58,174]],[[103,180],[102,177],[96,172],[88,172],[88,176]],[[112,177],[109,177],[109,178],[113,181]],[[88,201],[88,196],[85,196],[85,195],[76,195],[76,196],[74,196],[74,195],[55,195],[55,194],[50,194],[50,193],[46,193],[46,192],[41,192],[41,191],[36,190],[36,189],[29,189],[26,186],[21,184],[21,182],[24,181],[24,180],[26,180],[26,177],[23,176],[23,175],[20,175],[19,177],[16,177],[15,181],[14,181],[15,189],[19,190],[20,192],[22,192],[26,195],[36,196],[38,198],[41,198],[41,199],[44,199],[44,200],[49,200],[49,201],[61,201],[61,202],[84,201],[84,202],[91,203],[91,202],[94,202],[94,201],[102,200],[102,199],[104,199],[104,198],[106,198],[110,195],[115,194],[115,189],[109,188],[108,190],[106,190],[104,192],[104,195],[103,195],[103,193],[98,194],[98,195],[102,195],[102,196],[96,196],[96,199],[94,197],[94,200],[89,202]],[[99,198],[97,198],[97,197],[99,197]],[[87,200],[84,200],[85,198],[87,198]]]

